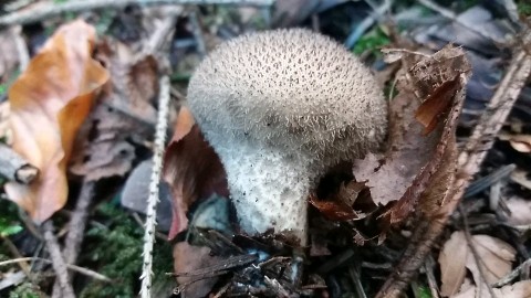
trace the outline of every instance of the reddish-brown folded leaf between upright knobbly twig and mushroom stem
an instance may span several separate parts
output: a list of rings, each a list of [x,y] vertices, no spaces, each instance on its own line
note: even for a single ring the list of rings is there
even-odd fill
[[[166,149],[164,180],[171,187],[174,196],[169,238],[186,230],[186,212],[198,199],[209,198],[211,193],[228,196],[223,166],[186,107],[180,108],[174,136]]]

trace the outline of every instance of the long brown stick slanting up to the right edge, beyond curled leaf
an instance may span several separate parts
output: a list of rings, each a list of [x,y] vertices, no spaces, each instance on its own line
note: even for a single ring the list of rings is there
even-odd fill
[[[399,297],[427,254],[431,252],[434,242],[442,234],[451,213],[457,209],[470,184],[472,175],[480,170],[481,162],[492,147],[498,131],[511,111],[530,73],[531,56],[521,50],[513,56],[509,70],[486,108],[486,113],[481,115],[464,151],[458,157],[457,177],[452,184],[454,192],[447,200],[448,204],[441,207],[440,216],[420,221],[404,257],[396,267],[396,273],[386,280],[376,297]]]

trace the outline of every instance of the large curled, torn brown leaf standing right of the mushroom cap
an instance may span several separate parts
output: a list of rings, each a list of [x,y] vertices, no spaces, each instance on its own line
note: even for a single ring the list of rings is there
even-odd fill
[[[406,219],[421,195],[429,201],[423,209],[436,210],[451,191],[454,136],[470,74],[465,52],[452,45],[420,60],[415,53],[398,52],[403,67],[398,95],[389,105],[388,148],[385,155],[356,160],[353,169],[357,181],[367,181],[374,202],[387,206],[387,223]],[[444,184],[426,193],[430,185],[441,184],[436,180]]]

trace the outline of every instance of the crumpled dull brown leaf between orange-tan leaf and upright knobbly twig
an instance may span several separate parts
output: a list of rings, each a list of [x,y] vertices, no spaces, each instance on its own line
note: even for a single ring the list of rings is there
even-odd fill
[[[128,172],[136,158],[136,146],[153,138],[156,121],[152,105],[158,89],[155,60],[136,60],[119,42],[103,42],[97,52],[111,72],[111,81],[80,130],[70,168],[85,180]]]

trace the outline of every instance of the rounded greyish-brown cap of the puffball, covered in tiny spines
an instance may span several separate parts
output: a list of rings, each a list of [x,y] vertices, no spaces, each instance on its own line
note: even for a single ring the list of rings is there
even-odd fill
[[[334,163],[375,149],[387,129],[371,72],[339,43],[303,29],[221,44],[196,70],[188,99],[214,147],[232,137]]]

